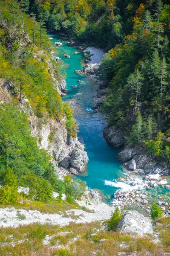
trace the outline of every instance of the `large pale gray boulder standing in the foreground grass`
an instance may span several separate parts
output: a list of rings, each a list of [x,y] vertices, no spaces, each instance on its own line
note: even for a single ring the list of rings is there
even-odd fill
[[[116,231],[117,230],[121,230],[123,233],[137,233],[139,236],[153,233],[150,219],[139,214],[137,211],[125,212],[124,216],[119,221]]]

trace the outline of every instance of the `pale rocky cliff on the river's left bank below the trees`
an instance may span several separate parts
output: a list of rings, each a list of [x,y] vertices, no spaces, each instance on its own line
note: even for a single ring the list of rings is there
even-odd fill
[[[37,116],[30,116],[30,125],[32,136],[37,137],[37,144],[44,148],[55,159],[55,166],[62,166],[65,169],[75,168],[78,172],[83,172],[88,163],[84,145],[77,137],[71,137],[67,134],[65,128],[66,119],[62,122],[55,119],[43,119]]]

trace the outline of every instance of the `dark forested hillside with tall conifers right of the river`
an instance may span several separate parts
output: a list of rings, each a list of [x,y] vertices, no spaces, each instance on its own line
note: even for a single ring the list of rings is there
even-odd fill
[[[109,85],[102,107],[109,125],[121,126],[136,107],[137,121],[127,127],[127,141],[143,143],[150,153],[169,162],[168,1],[33,0],[29,11],[36,11],[49,29],[68,33],[79,44],[109,50],[98,70],[98,79]]]

